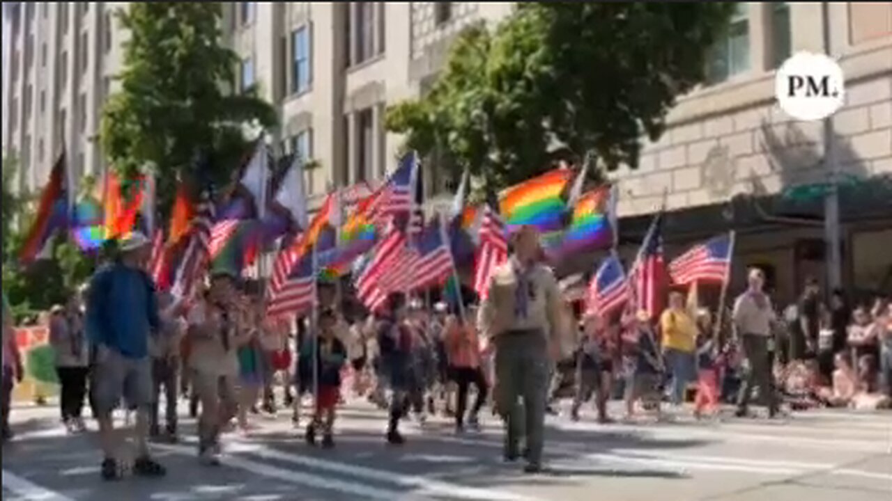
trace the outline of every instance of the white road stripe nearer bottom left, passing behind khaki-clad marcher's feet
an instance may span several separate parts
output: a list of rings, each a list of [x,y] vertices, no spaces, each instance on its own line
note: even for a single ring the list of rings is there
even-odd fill
[[[198,461],[198,457],[195,454],[194,447],[167,444],[151,444],[151,447],[165,450],[179,456],[192,456],[195,458],[196,462]],[[282,480],[284,482],[300,485],[303,487],[310,487],[313,489],[335,490],[343,494],[355,496],[359,499],[374,499],[376,501],[394,501],[396,499],[399,499],[401,501],[423,499],[422,497],[415,497],[411,494],[406,494],[395,490],[376,489],[374,487],[369,487],[366,484],[338,480],[331,477],[324,477],[322,475],[310,475],[307,473],[285,470],[285,468],[278,468],[276,466],[258,463],[256,461],[251,461],[249,459],[244,459],[241,457],[223,456],[222,458],[220,458],[220,463],[225,466],[238,468],[240,470],[244,470],[245,472],[251,472],[271,479]],[[54,499],[53,501],[69,500]]]

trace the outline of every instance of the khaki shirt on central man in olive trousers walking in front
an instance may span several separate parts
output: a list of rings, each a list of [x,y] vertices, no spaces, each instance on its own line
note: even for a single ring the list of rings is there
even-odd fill
[[[533,265],[527,280],[532,297],[527,296],[526,316],[515,314],[517,276],[515,259],[508,259],[492,274],[489,296],[483,300],[477,325],[484,337],[494,338],[508,331],[541,329],[552,339],[564,335],[562,304],[558,281],[549,267]]]

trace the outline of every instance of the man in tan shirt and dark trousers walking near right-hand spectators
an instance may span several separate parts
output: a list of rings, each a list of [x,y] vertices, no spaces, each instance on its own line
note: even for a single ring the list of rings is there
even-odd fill
[[[768,414],[773,417],[779,409],[772,382],[772,367],[768,362],[768,342],[773,335],[775,313],[771,299],[763,292],[764,272],[759,268],[750,269],[748,282],[747,292],[740,294],[734,302],[731,315],[737,339],[747,361],[746,379],[738,396],[737,415],[747,415],[749,399],[754,387],[758,385],[759,394],[768,406]]]

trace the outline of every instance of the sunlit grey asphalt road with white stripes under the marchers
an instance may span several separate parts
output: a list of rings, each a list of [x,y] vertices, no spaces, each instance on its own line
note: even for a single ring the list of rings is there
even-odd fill
[[[182,407],[182,406],[181,406]],[[185,407],[182,408],[185,415]],[[618,407],[615,408],[618,414]],[[15,408],[17,437],[3,448],[10,501],[889,501],[892,414],[812,411],[768,422],[594,423],[549,418],[548,471],[524,475],[500,459],[500,424],[456,436],[444,418],[405,426],[384,445],[385,417],[365,402],[343,407],[333,450],[310,448],[289,416],[256,416],[259,430],[224,438],[224,465],[198,464],[194,422],[179,445],[154,445],[161,480],[99,478],[94,432],[69,436],[52,407]],[[89,423],[95,430],[95,423]]]

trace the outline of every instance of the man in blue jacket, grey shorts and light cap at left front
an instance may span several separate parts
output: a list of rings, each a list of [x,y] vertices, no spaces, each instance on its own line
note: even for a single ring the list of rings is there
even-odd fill
[[[166,473],[149,456],[146,443],[153,400],[149,336],[158,332],[160,324],[155,286],[145,272],[149,248],[145,235],[134,232],[121,242],[118,259],[97,271],[89,286],[87,332],[96,346],[94,398],[105,480],[120,479],[120,462],[115,457],[120,443],[111,415],[121,398],[136,410],[133,471],[149,477]]]

